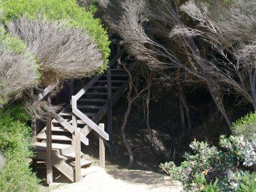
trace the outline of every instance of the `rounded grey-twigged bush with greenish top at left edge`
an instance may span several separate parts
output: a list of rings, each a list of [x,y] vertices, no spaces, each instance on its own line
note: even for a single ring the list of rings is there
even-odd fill
[[[38,70],[35,57],[24,42],[8,35],[0,26],[0,105],[33,88],[40,76]]]

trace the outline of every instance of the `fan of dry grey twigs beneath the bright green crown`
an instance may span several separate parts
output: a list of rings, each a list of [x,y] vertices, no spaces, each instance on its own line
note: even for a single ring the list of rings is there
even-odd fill
[[[39,59],[44,86],[59,80],[95,74],[103,61],[96,44],[81,29],[68,28],[65,22],[13,20],[8,31],[19,36]]]

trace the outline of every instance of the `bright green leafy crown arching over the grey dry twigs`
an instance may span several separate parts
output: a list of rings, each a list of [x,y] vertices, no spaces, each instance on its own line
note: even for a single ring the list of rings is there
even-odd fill
[[[3,0],[1,9],[4,10],[1,19],[4,24],[23,16],[31,20],[40,17],[47,20],[65,20],[67,26],[88,31],[93,42],[97,43],[105,64],[99,72],[107,68],[110,52],[107,32],[102,28],[100,20],[93,18],[93,11],[86,12],[78,6],[76,0]],[[93,5],[92,10],[95,10]]]

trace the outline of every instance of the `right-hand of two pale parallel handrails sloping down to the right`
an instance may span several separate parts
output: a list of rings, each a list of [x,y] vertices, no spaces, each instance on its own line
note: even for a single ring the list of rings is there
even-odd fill
[[[109,140],[108,133],[106,133],[105,131],[102,131],[102,129],[100,129],[100,127],[97,124],[95,124],[92,120],[90,120],[88,116],[84,115],[81,111],[79,111],[79,109],[73,108],[73,113],[76,114],[79,118],[81,118],[81,120],[83,120],[89,127],[91,127],[94,131],[96,131],[100,136],[102,136],[102,138],[104,138],[105,140]]]

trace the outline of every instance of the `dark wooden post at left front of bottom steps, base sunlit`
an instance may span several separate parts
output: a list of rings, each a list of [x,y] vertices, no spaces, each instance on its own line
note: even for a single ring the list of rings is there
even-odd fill
[[[48,95],[48,102],[51,103],[51,98]],[[52,117],[51,113],[47,114],[46,122],[46,169],[47,169],[47,184],[52,182]]]

